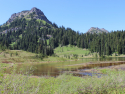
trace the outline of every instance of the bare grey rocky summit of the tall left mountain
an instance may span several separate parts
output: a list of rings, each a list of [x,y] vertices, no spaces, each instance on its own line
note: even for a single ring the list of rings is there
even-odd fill
[[[51,22],[46,18],[44,13],[40,9],[37,9],[36,7],[33,7],[31,10],[26,10],[26,11],[12,14],[9,20],[7,21],[7,23],[13,22],[16,18],[23,18],[23,17],[28,19],[33,17],[35,19],[44,20],[47,23],[51,24]]]

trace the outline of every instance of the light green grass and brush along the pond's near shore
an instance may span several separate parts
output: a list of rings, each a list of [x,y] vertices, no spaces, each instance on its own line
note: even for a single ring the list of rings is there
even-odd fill
[[[30,77],[20,74],[5,75],[0,72],[1,94],[124,94],[125,72],[104,70],[108,76]]]

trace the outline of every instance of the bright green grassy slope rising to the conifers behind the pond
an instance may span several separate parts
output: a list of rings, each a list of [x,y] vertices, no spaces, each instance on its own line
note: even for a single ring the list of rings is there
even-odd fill
[[[57,47],[54,49],[54,53],[58,56],[56,57],[48,57],[43,59],[44,61],[69,61],[69,60],[78,60],[80,58],[93,58],[93,55],[89,54],[90,51],[88,49],[78,48],[76,46],[63,46]],[[77,54],[78,57],[74,58],[73,54]],[[68,56],[70,58],[68,58]]]

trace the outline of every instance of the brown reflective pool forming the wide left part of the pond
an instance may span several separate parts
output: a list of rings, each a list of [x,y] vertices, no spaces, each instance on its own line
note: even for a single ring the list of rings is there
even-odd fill
[[[14,70],[17,74],[31,74],[34,76],[58,76],[60,74],[59,69],[48,64],[18,64],[15,68],[8,68],[4,72],[11,73]]]

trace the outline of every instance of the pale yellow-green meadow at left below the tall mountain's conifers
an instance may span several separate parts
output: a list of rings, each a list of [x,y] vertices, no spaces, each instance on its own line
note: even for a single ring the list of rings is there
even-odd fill
[[[41,60],[39,58],[36,58],[35,53],[22,50],[6,50],[0,54],[0,63],[30,63],[39,61]]]

